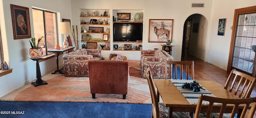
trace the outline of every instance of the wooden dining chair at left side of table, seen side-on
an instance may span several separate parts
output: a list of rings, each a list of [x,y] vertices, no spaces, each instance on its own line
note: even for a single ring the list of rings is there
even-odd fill
[[[168,107],[163,103],[158,103],[156,90],[154,88],[153,78],[150,69],[146,68],[146,77],[148,79],[148,85],[150,88],[151,101],[152,101],[152,115],[151,118],[167,118]],[[172,112],[172,118],[191,118],[187,112]]]

